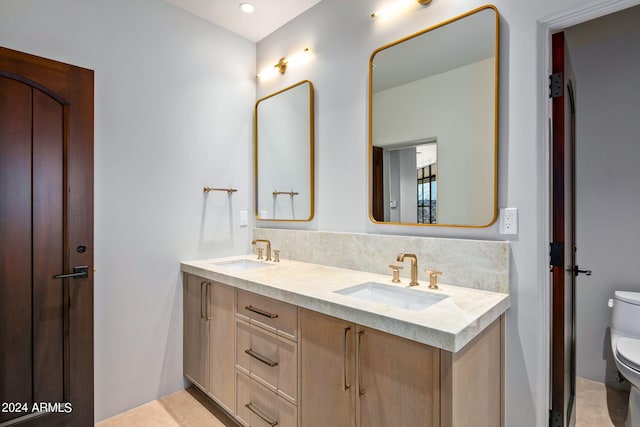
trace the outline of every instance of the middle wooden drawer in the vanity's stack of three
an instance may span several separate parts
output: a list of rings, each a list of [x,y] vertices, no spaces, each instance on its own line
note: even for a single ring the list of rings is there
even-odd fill
[[[297,404],[297,344],[236,319],[236,367]]]

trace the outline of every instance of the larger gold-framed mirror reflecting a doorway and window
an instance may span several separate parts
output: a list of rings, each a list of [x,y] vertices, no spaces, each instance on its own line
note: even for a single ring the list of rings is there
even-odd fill
[[[372,220],[466,227],[495,221],[497,66],[493,6],[371,55]]]

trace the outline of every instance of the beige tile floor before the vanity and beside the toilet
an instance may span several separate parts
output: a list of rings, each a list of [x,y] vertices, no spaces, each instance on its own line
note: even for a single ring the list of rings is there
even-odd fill
[[[629,393],[577,379],[576,427],[624,427]],[[99,422],[96,427],[237,427],[195,388]]]

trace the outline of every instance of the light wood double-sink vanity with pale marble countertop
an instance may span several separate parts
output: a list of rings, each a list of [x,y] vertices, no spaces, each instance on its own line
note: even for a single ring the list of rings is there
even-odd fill
[[[184,374],[242,425],[504,425],[508,294],[253,255],[181,267]]]

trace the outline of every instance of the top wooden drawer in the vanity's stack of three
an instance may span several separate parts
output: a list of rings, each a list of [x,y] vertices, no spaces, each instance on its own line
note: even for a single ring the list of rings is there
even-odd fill
[[[239,290],[236,313],[252,324],[297,340],[298,308],[295,305]]]

